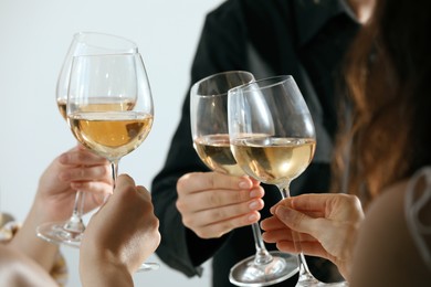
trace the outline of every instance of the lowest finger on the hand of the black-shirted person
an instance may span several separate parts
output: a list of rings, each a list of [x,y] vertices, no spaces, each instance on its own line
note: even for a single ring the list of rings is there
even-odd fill
[[[259,212],[243,214],[238,217],[232,217],[225,221],[214,222],[199,228],[192,228],[201,238],[219,238],[225,233],[242,226],[248,226],[260,220]]]

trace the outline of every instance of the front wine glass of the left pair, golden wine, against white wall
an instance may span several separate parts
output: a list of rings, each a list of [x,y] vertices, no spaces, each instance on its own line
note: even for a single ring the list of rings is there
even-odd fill
[[[140,54],[74,56],[66,111],[76,139],[109,160],[115,185],[119,160],[141,145],[154,120],[153,97]],[[146,263],[139,270],[158,267]]]

